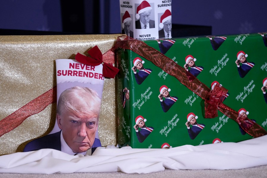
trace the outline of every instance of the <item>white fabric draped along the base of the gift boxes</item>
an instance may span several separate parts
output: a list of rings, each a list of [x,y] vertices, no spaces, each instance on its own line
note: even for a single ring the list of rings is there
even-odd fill
[[[110,146],[109,146],[110,148]],[[151,173],[167,169],[243,169],[267,165],[267,135],[239,143],[171,149],[97,148],[92,156],[42,149],[0,156],[1,173]]]

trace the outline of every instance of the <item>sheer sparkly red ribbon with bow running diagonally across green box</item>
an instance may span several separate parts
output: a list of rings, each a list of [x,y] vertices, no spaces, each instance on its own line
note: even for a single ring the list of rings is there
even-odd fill
[[[161,68],[166,73],[177,78],[188,89],[192,90],[198,96],[205,100],[205,118],[214,118],[218,116],[219,109],[227,117],[233,119],[240,127],[253,137],[266,135],[267,132],[257,123],[246,122],[249,119],[242,117],[238,112],[222,103],[228,90],[215,85],[214,89],[209,89],[204,83],[200,82],[190,72],[179,66],[173,60],[163,55],[154,48],[146,45],[144,42],[133,39],[128,36],[119,36],[115,48],[124,48],[132,50],[134,53],[146,58],[153,64]],[[217,86],[217,87],[216,87]],[[253,124],[251,124],[253,123]]]

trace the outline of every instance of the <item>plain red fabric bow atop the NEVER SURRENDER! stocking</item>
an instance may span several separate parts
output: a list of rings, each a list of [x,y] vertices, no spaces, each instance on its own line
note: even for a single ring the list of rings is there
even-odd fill
[[[103,62],[103,55],[97,46],[90,49],[88,51],[88,54],[92,58],[82,55],[80,53],[77,53],[77,55],[75,56],[75,59],[78,62],[89,65],[89,66],[98,66],[102,64],[104,77],[114,78],[115,75],[119,72],[119,69],[117,69],[116,67],[113,67],[112,65],[109,65],[108,63]]]

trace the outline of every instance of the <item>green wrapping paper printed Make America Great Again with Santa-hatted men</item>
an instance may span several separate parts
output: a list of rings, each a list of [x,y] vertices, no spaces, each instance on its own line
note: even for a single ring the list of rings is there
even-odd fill
[[[194,61],[198,69],[194,70],[194,66],[190,68],[189,64],[189,72],[211,89],[215,85],[226,88],[228,93],[223,104],[236,110],[240,116],[245,113],[252,120],[252,123],[244,120],[247,124],[243,128],[249,128],[256,122],[266,130],[266,95],[261,90],[267,77],[265,35],[205,36],[144,42],[184,68],[187,68],[186,62]],[[244,63],[239,64],[237,58],[242,55],[248,63],[240,59]],[[205,119],[204,100],[145,58],[130,50],[120,50],[117,58],[120,67],[118,119],[121,146],[161,148],[166,143],[174,147],[239,142],[252,138],[221,112],[218,112],[218,117]],[[148,72],[137,69],[134,74],[132,68],[136,61],[144,62],[142,65]],[[171,103],[168,97],[160,101],[160,90],[164,89],[169,90],[172,104],[168,104]],[[129,99],[126,97],[128,94]],[[188,126],[187,121],[191,117],[199,124],[197,129],[192,124]],[[138,128],[138,133],[134,127],[136,121],[142,120],[148,128],[146,131]]]

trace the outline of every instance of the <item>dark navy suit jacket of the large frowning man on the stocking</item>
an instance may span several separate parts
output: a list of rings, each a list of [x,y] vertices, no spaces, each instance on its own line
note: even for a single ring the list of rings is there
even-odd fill
[[[51,148],[61,151],[60,134],[61,131],[35,139],[26,144],[23,152],[40,150],[43,148]],[[97,147],[101,147],[101,143],[99,139],[95,138],[95,142],[92,146],[92,153]]]

